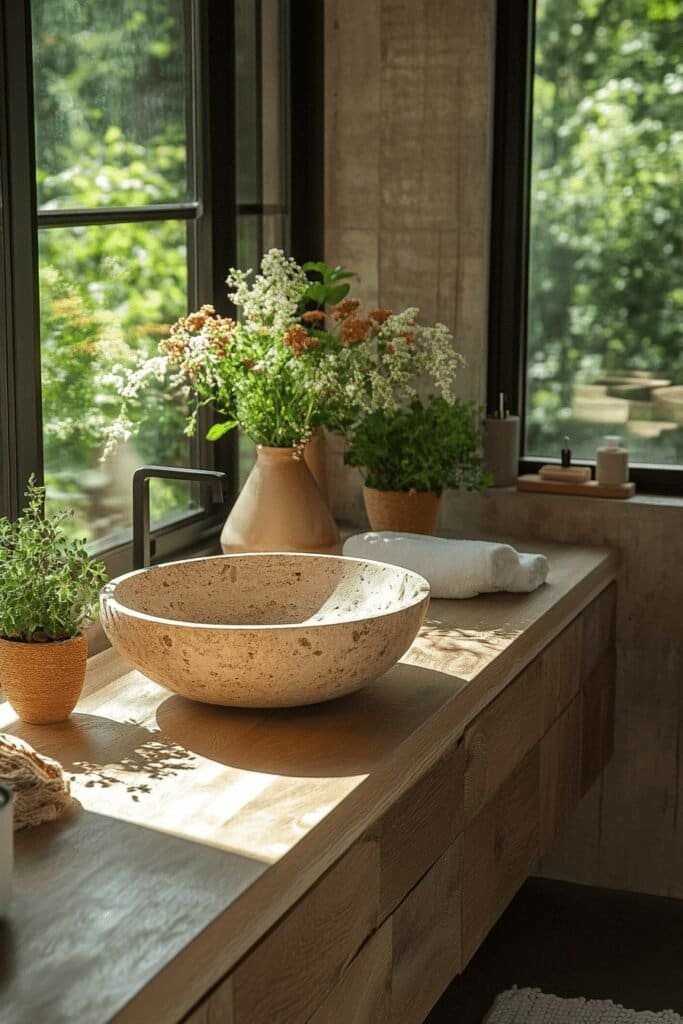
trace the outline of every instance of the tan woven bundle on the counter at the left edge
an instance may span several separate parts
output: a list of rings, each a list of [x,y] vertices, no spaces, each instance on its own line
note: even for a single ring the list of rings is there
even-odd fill
[[[53,821],[72,806],[61,765],[0,732],[0,782],[14,794],[14,831]]]

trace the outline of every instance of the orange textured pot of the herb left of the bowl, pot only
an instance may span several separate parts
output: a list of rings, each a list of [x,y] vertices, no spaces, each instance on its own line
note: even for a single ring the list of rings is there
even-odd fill
[[[0,639],[0,686],[24,722],[65,722],[83,690],[85,634],[52,643]]]

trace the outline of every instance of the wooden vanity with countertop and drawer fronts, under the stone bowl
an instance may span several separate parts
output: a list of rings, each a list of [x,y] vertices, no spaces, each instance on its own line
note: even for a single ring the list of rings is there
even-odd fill
[[[613,552],[537,544],[530,595],[433,601],[338,701],[228,711],[108,651],[56,757],[81,807],[19,834],[2,1024],[412,1024],[611,750]]]

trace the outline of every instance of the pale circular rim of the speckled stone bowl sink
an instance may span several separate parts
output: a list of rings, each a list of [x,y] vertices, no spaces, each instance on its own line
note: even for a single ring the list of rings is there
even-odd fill
[[[272,558],[278,556],[286,556],[289,558],[314,558],[314,559],[330,559],[336,562],[355,562],[362,565],[379,565],[383,569],[392,569],[395,572],[399,572],[405,578],[413,578],[416,585],[415,596],[412,600],[403,600],[400,604],[396,604],[395,607],[390,609],[383,609],[370,614],[361,614],[353,616],[344,616],[342,618],[337,618],[331,622],[325,623],[190,623],[183,618],[166,618],[162,615],[152,615],[146,611],[138,611],[135,608],[129,607],[122,601],[117,599],[116,590],[119,584],[124,583],[126,580],[131,580],[133,577],[142,575],[143,573],[154,572],[157,569],[169,568],[171,566],[187,565],[190,562],[215,562],[224,561],[225,559],[233,558]],[[244,552],[232,552],[227,555],[200,555],[195,558],[179,558],[177,561],[170,562],[160,562],[158,565],[147,565],[141,569],[132,569],[130,572],[124,572],[122,575],[115,577],[110,580],[109,583],[104,584],[99,592],[100,603],[106,604],[108,607],[114,609],[116,612],[122,615],[128,615],[132,618],[138,618],[140,622],[145,623],[157,623],[160,626],[181,626],[185,629],[195,630],[222,630],[229,632],[251,632],[251,631],[266,631],[266,630],[319,630],[319,629],[332,629],[339,628],[340,626],[347,626],[352,623],[369,622],[378,618],[387,618],[391,615],[396,615],[401,612],[408,611],[410,608],[417,607],[422,604],[425,600],[429,598],[430,586],[424,577],[420,575],[419,572],[415,572],[413,569],[403,568],[402,565],[394,565],[391,562],[381,562],[374,558],[355,558],[350,555],[323,555],[315,554],[312,552],[304,551],[244,551]]]

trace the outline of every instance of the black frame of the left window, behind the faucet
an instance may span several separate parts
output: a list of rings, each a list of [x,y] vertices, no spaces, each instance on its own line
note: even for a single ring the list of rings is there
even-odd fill
[[[255,0],[255,16],[261,4]],[[26,481],[42,480],[38,230],[69,223],[183,219],[188,224],[188,303],[212,302],[233,313],[225,289],[227,268],[238,263],[238,218],[273,211],[262,203],[239,205],[236,196],[234,4],[232,0],[185,0],[194,60],[190,124],[197,202],[125,211],[102,209],[40,213],[35,184],[30,0],[0,0],[0,87],[7,97],[0,112],[0,514],[22,508]],[[290,53],[290,144],[288,187],[292,241],[301,259],[322,258],[323,248],[323,0],[296,0],[285,8],[288,38],[304,40],[319,58],[301,61]],[[305,29],[305,31],[303,31]],[[298,43],[297,43],[298,45]],[[301,54],[300,54],[301,56]],[[260,51],[255,54],[260,61]],[[302,68],[303,66],[303,68]],[[315,121],[310,116],[311,95]],[[10,98],[11,97],[11,98]],[[295,127],[296,126],[296,127]],[[260,131],[260,126],[258,128]],[[299,142],[307,132],[308,143]],[[289,185],[289,183],[288,183]],[[305,187],[304,187],[305,186]],[[279,213],[287,213],[286,208]],[[305,253],[304,247],[310,245]],[[19,314],[20,313],[20,314]],[[204,426],[208,425],[205,420]],[[200,438],[205,431],[200,430]],[[239,486],[236,431],[217,443],[197,441],[195,463],[226,472],[222,509],[205,508],[153,531],[153,561],[177,557],[208,544],[220,530]],[[103,552],[112,574],[132,564],[132,543]]]

